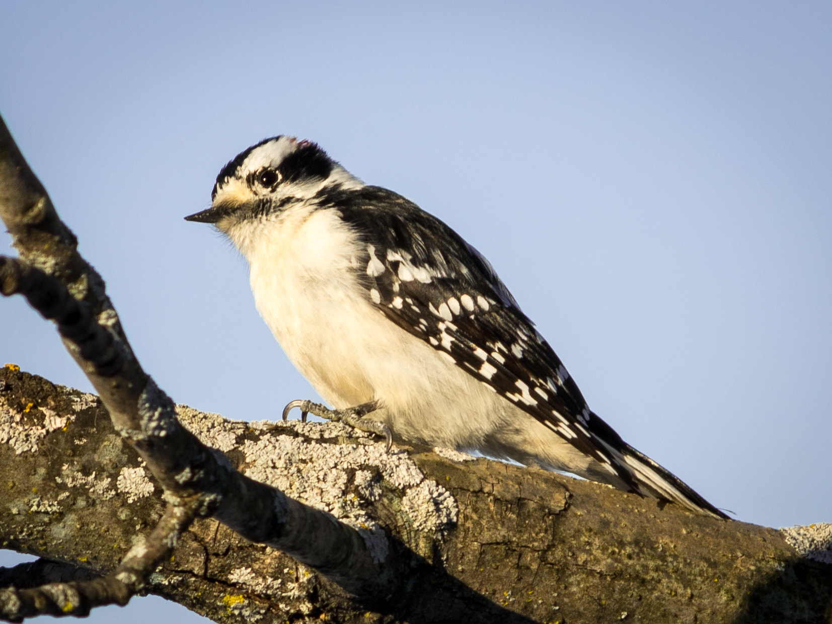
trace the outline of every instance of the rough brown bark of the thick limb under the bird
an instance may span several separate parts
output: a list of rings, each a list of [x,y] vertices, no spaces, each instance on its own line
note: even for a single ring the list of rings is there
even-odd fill
[[[19,418],[14,430],[37,446],[17,453],[20,435],[0,444],[0,545],[81,568],[21,567],[17,584],[110,572],[161,517],[161,488],[149,491],[141,458],[90,395],[10,368],[0,387],[7,416]],[[244,472],[246,441],[303,435],[245,423],[227,430],[226,455]],[[832,622],[832,566],[802,559],[774,529],[536,469],[455,462],[428,448],[409,454],[453,494],[458,520],[425,529],[401,488],[377,479],[364,513],[400,562],[396,595],[355,602],[215,520],[192,525],[149,591],[216,622]]]

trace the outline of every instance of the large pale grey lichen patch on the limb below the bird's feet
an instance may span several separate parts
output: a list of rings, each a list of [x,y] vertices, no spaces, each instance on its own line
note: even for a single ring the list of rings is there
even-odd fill
[[[242,471],[354,527],[376,562],[384,562],[389,547],[384,529],[369,516],[367,508],[382,496],[383,483],[404,493],[403,511],[419,531],[439,537],[456,522],[457,506],[450,493],[438,483],[426,481],[408,453],[385,453],[384,443],[374,443],[370,433],[344,423],[230,422],[186,405],[178,405],[176,411],[181,423],[201,442],[220,450],[235,448],[249,428],[274,431],[276,434],[245,439],[236,446],[245,456]],[[344,443],[317,442],[322,439]]]

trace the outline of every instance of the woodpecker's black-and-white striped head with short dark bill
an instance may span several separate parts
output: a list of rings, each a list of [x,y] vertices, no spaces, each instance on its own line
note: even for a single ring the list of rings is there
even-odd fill
[[[311,141],[273,136],[241,151],[216,176],[211,206],[186,220],[213,223],[226,235],[339,188],[364,184]]]

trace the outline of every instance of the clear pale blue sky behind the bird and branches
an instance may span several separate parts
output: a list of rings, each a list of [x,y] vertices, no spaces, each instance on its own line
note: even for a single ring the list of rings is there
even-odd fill
[[[829,2],[0,2],[0,112],[177,402],[316,396],[245,261],[182,220],[293,134],[481,250],[592,409],[712,503],[832,522],[830,32]],[[19,298],[0,359],[91,389]],[[118,617],[162,613],[201,619]]]

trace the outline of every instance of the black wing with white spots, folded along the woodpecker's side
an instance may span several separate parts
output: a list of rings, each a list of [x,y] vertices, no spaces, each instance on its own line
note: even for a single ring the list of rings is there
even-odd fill
[[[488,261],[392,191],[334,192],[327,204],[366,245],[359,275],[394,323],[595,458],[633,492],[725,515],[594,414]]]

